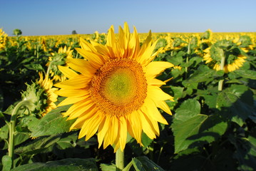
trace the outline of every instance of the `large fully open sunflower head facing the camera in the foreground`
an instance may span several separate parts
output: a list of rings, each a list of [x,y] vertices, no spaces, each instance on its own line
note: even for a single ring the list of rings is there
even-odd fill
[[[70,68],[59,69],[69,79],[55,85],[61,88],[56,93],[67,97],[58,106],[73,104],[63,115],[77,118],[70,129],[81,129],[78,138],[86,140],[98,131],[98,147],[115,145],[115,152],[124,150],[127,133],[140,145],[142,132],[151,139],[159,135],[158,123],[168,123],[158,108],[171,115],[165,100],[173,97],[155,77],[173,64],[153,61],[160,50],[153,53],[157,42],[151,32],[141,47],[136,28],[130,33],[126,23],[117,39],[113,26],[109,28],[105,46],[80,41],[76,51],[85,60],[68,58]]]

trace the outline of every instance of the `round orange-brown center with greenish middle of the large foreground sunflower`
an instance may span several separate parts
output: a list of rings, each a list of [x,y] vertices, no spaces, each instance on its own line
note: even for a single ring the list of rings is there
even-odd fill
[[[102,66],[91,81],[91,97],[106,115],[127,115],[143,105],[147,83],[140,63],[115,59]]]

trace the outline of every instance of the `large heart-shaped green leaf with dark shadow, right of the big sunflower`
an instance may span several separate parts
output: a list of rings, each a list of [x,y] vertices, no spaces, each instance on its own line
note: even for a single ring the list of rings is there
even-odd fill
[[[217,115],[203,115],[197,100],[186,100],[173,119],[175,153],[217,140],[227,129]]]

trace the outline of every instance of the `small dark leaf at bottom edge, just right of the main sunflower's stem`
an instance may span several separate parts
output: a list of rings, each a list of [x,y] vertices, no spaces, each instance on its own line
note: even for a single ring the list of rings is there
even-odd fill
[[[145,156],[135,157],[132,161],[136,171],[164,171],[160,166],[156,165],[155,162]]]

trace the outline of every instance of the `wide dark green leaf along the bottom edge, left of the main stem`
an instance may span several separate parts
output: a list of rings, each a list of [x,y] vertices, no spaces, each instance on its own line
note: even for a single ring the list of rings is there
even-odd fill
[[[31,164],[21,165],[11,171],[97,171],[96,161],[93,158],[79,159],[67,158],[63,160],[51,162],[35,162]]]

